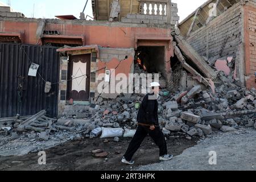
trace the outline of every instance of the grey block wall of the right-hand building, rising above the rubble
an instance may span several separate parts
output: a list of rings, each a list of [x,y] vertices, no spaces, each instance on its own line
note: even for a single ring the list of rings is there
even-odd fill
[[[237,77],[245,84],[243,58],[243,10],[237,3],[209,24],[192,32],[187,42],[211,65],[220,57],[232,56],[236,61]]]

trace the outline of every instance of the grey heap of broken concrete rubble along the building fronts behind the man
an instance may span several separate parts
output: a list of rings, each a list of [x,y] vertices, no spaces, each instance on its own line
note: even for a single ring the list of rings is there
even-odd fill
[[[176,93],[160,90],[159,124],[166,138],[191,140],[192,137],[207,137],[217,131],[236,131],[243,127],[256,129],[256,89],[246,90],[240,86],[239,80],[226,76],[223,71],[216,72],[215,92],[212,89],[204,90],[204,85],[177,90]],[[48,147],[84,137],[112,138],[119,142],[121,137],[134,136],[138,126],[137,114],[144,96],[142,93],[121,94],[115,99],[98,96],[88,106],[67,106],[59,119],[46,117],[45,110],[32,116],[17,114],[13,118],[2,118],[0,135],[5,137],[2,137],[0,144],[3,146],[15,140],[24,146],[24,143],[32,142],[39,147],[32,147],[30,151],[36,151],[45,148],[46,143],[42,142],[46,141],[54,141],[47,144]],[[0,147],[0,150],[6,151],[8,148]],[[102,152],[95,155],[107,155]]]

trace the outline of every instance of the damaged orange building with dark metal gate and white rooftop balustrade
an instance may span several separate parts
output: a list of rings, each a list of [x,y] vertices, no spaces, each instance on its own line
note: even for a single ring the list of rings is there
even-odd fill
[[[177,4],[166,0],[92,2],[94,20],[85,20],[82,13],[81,19],[72,19],[70,16],[57,16],[60,19],[34,19],[24,18],[24,15],[14,18],[7,13],[1,14],[1,55],[9,63],[11,59],[16,65],[9,67],[10,71],[5,70],[5,63],[1,65],[1,73],[6,72],[4,75],[7,75],[2,78],[1,87],[5,86],[7,89],[1,90],[1,96],[4,97],[5,92],[10,93],[16,86],[19,86],[20,91],[18,94],[16,91],[7,94],[6,102],[1,104],[2,117],[13,116],[15,113],[35,114],[41,109],[46,109],[54,116],[61,115],[69,104],[86,105],[99,94],[97,77],[100,73],[115,69],[116,75],[124,73],[128,76],[129,73],[134,73],[136,64],[141,64],[139,60],[143,61],[144,71],[147,73],[161,73],[164,78],[162,85],[167,85],[171,64],[176,63],[175,59],[172,61],[175,53],[171,32],[175,30],[179,20]],[[9,11],[6,8],[1,10]],[[180,44],[184,43],[181,42]],[[184,49],[188,48],[191,47]],[[8,57],[7,52],[14,56]],[[17,55],[23,55],[24,63],[18,61],[20,58]],[[201,74],[209,78],[214,77],[215,73],[205,61],[202,61],[201,57],[198,61],[197,58],[194,59],[197,61],[196,65],[202,64],[199,66]],[[24,69],[20,69],[22,65],[18,65],[31,64],[31,61],[41,65],[39,76],[36,78],[27,77],[29,65]],[[56,67],[59,69],[56,70]],[[17,85],[4,82],[12,73],[16,74],[14,83]],[[198,75],[200,74],[196,76]],[[79,78],[72,81],[74,77]],[[51,91],[44,93],[46,96],[42,97],[42,94],[39,96],[40,93],[36,93],[36,89],[42,90],[45,81],[50,82],[52,87]],[[112,82],[111,78],[109,82]],[[38,85],[36,89],[35,85]],[[32,106],[35,103],[30,96],[40,97],[36,107]],[[20,101],[18,108],[10,108],[11,103],[17,104],[15,100],[18,97],[25,100],[26,105]],[[105,96],[115,97],[116,94]],[[27,111],[30,107],[31,112]]]

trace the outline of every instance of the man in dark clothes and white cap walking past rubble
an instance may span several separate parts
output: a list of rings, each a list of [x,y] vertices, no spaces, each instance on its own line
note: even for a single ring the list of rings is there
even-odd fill
[[[138,129],[122,158],[122,163],[131,165],[134,164],[134,161],[132,160],[133,155],[141,146],[141,143],[147,135],[150,135],[150,137],[159,147],[159,160],[171,160],[173,158],[172,155],[167,154],[166,139],[160,130],[158,123],[157,98],[159,97],[159,87],[160,84],[158,82],[152,82],[150,84],[152,92],[148,93],[143,98],[137,117]]]

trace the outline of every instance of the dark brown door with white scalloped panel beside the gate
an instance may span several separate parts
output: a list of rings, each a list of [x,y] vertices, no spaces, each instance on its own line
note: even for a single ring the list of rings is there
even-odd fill
[[[90,54],[69,57],[68,94],[73,101],[89,101],[90,96]]]

